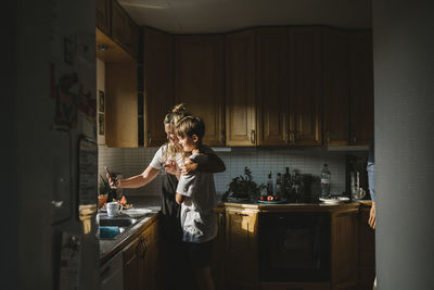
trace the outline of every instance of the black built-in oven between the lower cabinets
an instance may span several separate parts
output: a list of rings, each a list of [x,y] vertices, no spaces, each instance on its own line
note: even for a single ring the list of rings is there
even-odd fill
[[[330,213],[260,213],[261,281],[328,281],[330,259]]]

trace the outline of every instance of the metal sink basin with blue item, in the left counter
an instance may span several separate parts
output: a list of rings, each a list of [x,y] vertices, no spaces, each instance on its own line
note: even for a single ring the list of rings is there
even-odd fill
[[[129,216],[108,217],[106,214],[98,214],[101,240],[113,240],[118,238],[128,228],[132,227],[138,218]]]

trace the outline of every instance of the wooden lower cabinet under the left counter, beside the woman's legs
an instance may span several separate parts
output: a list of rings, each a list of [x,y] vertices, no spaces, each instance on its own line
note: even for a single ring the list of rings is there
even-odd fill
[[[159,235],[156,219],[123,251],[124,289],[161,289]]]

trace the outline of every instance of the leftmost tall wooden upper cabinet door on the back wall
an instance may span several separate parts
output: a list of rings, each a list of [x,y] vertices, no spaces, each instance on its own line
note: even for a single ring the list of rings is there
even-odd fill
[[[166,141],[165,115],[174,106],[174,38],[143,28],[144,146],[159,147]]]

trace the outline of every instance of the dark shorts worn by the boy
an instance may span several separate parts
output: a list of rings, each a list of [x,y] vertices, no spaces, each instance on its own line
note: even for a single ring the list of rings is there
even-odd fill
[[[183,242],[186,260],[194,268],[203,268],[210,265],[210,253],[214,239],[206,242]]]

